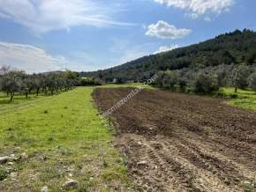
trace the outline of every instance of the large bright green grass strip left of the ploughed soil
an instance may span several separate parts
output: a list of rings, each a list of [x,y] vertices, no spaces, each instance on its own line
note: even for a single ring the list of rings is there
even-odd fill
[[[1,104],[0,157],[24,152],[28,157],[0,165],[0,191],[41,191],[43,186],[60,191],[67,178],[79,181],[71,191],[129,187],[112,133],[94,107],[93,89]]]

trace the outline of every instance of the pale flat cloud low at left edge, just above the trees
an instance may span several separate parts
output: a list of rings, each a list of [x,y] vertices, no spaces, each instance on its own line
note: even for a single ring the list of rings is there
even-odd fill
[[[63,56],[49,55],[34,46],[0,42],[0,63],[32,73],[63,70],[67,60]]]

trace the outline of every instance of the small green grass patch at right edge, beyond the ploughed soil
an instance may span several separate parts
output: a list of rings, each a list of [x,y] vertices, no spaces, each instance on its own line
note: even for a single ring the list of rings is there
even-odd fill
[[[222,91],[225,92],[228,97],[235,93],[233,87],[224,87],[222,88]],[[245,109],[256,110],[256,92],[238,89],[236,94],[237,98],[230,99],[228,104]]]

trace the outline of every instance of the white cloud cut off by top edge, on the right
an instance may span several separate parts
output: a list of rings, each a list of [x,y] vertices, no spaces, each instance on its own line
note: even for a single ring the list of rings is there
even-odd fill
[[[235,0],[154,0],[154,2],[190,11],[192,18],[208,13],[221,14],[223,11],[229,11],[235,4]]]

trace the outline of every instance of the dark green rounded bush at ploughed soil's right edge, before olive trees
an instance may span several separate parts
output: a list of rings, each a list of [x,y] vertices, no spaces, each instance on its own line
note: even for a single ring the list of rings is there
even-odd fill
[[[194,92],[197,93],[213,93],[220,88],[214,78],[204,74],[200,74],[198,78],[196,78],[193,86]]]

